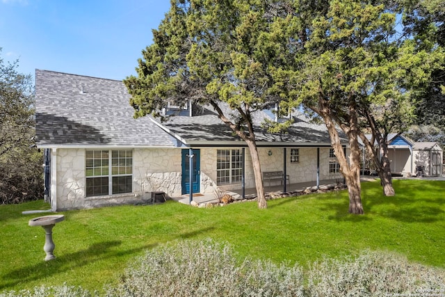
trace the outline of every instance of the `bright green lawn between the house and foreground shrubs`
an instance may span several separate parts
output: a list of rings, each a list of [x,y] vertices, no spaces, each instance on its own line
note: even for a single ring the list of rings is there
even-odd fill
[[[388,250],[412,262],[445,268],[445,182],[395,180],[396,197],[378,182],[362,184],[364,216],[348,214],[348,194],[314,194],[198,209],[177,202],[65,211],[54,227],[57,259],[44,262],[44,231],[29,227],[42,201],[0,206],[0,291],[45,284],[101,291],[116,284],[145,250],[183,239],[230,243],[240,258],[307,266],[324,256]]]

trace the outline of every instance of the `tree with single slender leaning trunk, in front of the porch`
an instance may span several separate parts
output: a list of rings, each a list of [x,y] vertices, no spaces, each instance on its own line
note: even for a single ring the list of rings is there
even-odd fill
[[[267,206],[254,134],[254,112],[280,101],[271,95],[269,63],[283,64],[280,1],[173,0],[143,50],[138,77],[124,80],[135,116],[165,118],[162,109],[210,104],[247,143],[260,208]],[[276,131],[276,130],[275,130]]]

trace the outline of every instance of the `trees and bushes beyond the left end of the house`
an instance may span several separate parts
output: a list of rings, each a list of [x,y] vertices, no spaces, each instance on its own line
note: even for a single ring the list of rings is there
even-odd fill
[[[33,148],[34,94],[31,75],[0,58],[0,204],[39,199],[42,154]]]

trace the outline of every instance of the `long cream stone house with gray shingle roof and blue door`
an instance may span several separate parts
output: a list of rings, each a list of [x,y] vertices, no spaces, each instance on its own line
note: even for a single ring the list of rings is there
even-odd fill
[[[54,211],[147,202],[156,192],[254,188],[247,145],[209,106],[166,106],[177,113],[167,122],[135,119],[122,81],[47,70],[36,70],[35,94],[36,143],[47,155]],[[342,178],[324,125],[300,115],[289,133],[270,134],[261,129],[268,117],[254,115],[263,172],[282,171],[291,184]]]

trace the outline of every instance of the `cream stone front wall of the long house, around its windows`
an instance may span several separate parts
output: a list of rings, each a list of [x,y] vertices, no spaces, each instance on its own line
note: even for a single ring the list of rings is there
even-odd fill
[[[241,188],[241,183],[216,185],[216,161],[219,148],[200,149],[200,192],[218,193]],[[233,150],[234,148],[229,148]],[[283,169],[283,148],[259,147],[263,172]],[[286,170],[290,182],[316,180],[316,148],[300,147],[300,163],[291,163],[291,150],[286,149]],[[181,149],[134,149],[133,193],[86,198],[85,149],[56,150],[56,209],[81,209],[113,204],[149,201],[152,192],[162,191],[170,197],[181,195]],[[245,149],[245,187],[254,188],[250,152]],[[320,150],[320,179],[341,178],[329,174],[329,148]]]

